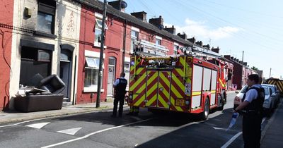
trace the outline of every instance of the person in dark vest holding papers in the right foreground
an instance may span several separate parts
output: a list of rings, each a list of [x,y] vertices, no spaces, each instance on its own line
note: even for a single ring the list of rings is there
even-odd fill
[[[260,147],[262,104],[265,90],[259,83],[258,75],[248,75],[249,89],[243,95],[242,103],[234,110],[243,115],[244,147]]]

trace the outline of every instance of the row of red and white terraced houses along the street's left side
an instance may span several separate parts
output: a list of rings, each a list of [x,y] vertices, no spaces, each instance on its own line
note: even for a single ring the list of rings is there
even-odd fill
[[[19,88],[30,85],[37,73],[44,78],[59,75],[66,84],[66,103],[96,101],[103,2],[13,0],[2,1],[1,8],[1,109],[13,109]],[[146,12],[127,14],[125,8],[122,0],[107,5],[101,101],[112,97],[112,83],[122,71],[129,79],[134,52],[178,54],[180,47],[205,47],[185,34],[176,35],[174,26],[164,27],[162,16],[148,22]]]

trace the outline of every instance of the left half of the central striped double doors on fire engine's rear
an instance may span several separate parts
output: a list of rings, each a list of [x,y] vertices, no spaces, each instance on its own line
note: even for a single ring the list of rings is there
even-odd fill
[[[156,107],[158,89],[158,71],[148,70],[146,74],[146,106]]]

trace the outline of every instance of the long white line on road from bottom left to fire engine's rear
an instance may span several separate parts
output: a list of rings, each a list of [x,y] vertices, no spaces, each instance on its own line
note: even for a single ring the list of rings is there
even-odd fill
[[[69,143],[69,142],[74,142],[74,141],[77,141],[77,140],[82,140],[82,139],[85,139],[86,137],[89,137],[91,135],[95,135],[95,134],[98,134],[100,132],[105,132],[107,130],[112,130],[112,129],[115,129],[115,128],[122,128],[122,127],[125,127],[127,125],[133,125],[133,124],[136,124],[136,123],[141,123],[141,122],[145,122],[145,121],[150,121],[154,118],[149,118],[149,119],[146,119],[144,121],[137,121],[137,122],[134,122],[134,123],[128,123],[128,124],[125,124],[125,125],[120,125],[120,126],[115,126],[115,127],[112,127],[112,128],[106,128],[104,130],[98,130],[96,132],[91,132],[89,133],[88,135],[84,135],[83,137],[78,137],[78,138],[75,138],[75,139],[72,139],[72,140],[67,140],[67,141],[64,141],[64,142],[59,142],[59,143],[56,143],[56,144],[51,144],[51,145],[47,145],[45,147],[42,147],[42,148],[48,148],[48,147],[55,147],[55,146],[58,146],[58,145],[61,145],[61,144],[66,144],[66,143]]]

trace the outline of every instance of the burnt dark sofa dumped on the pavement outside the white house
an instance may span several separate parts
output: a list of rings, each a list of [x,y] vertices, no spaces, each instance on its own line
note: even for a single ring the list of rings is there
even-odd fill
[[[23,112],[47,111],[62,109],[65,84],[57,75],[42,78],[40,74],[33,76],[33,88],[25,92],[24,97],[16,97],[15,109]]]

